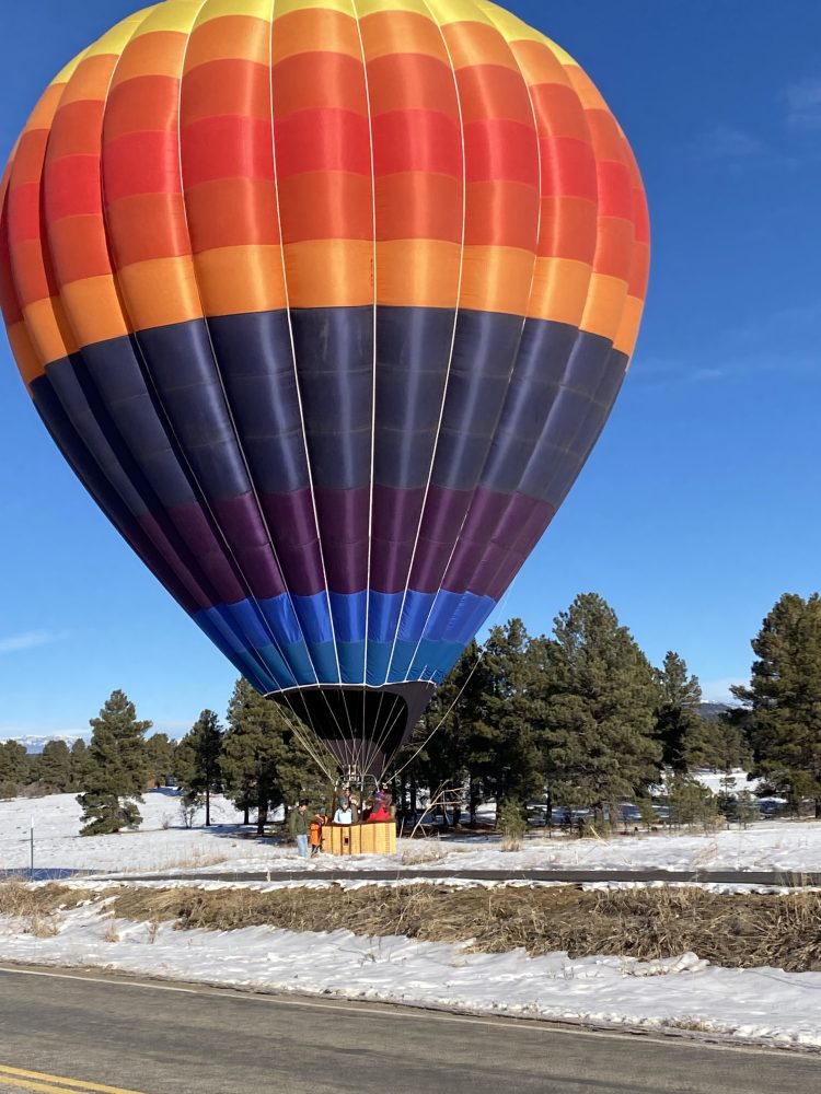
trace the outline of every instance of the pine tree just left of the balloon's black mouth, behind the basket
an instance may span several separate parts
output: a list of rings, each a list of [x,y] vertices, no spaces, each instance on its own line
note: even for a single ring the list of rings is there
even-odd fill
[[[220,766],[228,793],[245,812],[245,823],[250,810],[256,810],[261,836],[269,808],[296,801],[309,787],[323,782],[322,772],[294,737],[292,719],[247,680],[236,682],[228,705]]]

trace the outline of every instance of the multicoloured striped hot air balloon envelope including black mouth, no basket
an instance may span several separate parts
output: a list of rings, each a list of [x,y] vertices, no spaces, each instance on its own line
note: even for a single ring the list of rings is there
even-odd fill
[[[483,0],[165,0],[56,77],[1,197],[66,459],[240,672],[381,775],[625,376],[648,219],[601,95]]]

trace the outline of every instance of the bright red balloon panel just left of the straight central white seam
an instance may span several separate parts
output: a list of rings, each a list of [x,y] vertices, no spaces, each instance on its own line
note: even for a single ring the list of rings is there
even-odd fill
[[[274,130],[277,176],[305,171],[352,171],[370,175],[368,119],[350,110],[300,110]]]

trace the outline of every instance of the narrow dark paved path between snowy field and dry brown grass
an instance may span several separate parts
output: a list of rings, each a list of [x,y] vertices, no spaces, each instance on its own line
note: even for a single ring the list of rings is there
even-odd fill
[[[296,864],[296,863],[294,863]],[[114,874],[106,876],[113,877]],[[474,881],[531,881],[531,882],[715,882],[721,885],[784,885],[793,888],[821,886],[819,873],[786,873],[752,870],[425,870],[400,866],[395,870],[328,870],[324,864],[308,869],[238,871],[235,873],[198,870],[186,873],[127,874],[128,881],[209,881],[209,882],[265,882],[265,881],[402,881],[429,877],[444,881],[448,877]]]

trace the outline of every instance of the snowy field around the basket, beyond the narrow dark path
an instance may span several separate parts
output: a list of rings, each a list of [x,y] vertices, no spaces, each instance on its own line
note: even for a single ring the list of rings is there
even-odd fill
[[[106,872],[262,870],[302,865],[296,850],[271,840],[248,839],[241,815],[223,799],[212,803],[210,829],[186,829],[178,799],[169,791],[146,794],[139,831],[81,837],[80,807],[72,794],[0,802],[0,869],[28,866],[34,818],[35,866]],[[201,823],[201,816],[199,822]],[[309,869],[385,870],[417,863],[426,869],[522,870],[772,870],[821,871],[821,822],[767,821],[751,828],[699,834],[645,831],[612,839],[530,836],[522,850],[504,852],[494,836],[438,841],[400,840],[395,856],[321,856]]]

